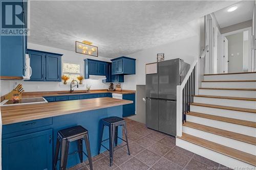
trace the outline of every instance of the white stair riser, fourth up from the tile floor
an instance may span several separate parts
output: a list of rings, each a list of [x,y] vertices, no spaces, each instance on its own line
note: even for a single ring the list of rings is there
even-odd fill
[[[202,106],[193,106],[193,105],[190,106],[190,111],[256,122],[255,113],[240,112],[240,111],[226,110],[226,109],[217,109],[217,108],[202,107]]]

